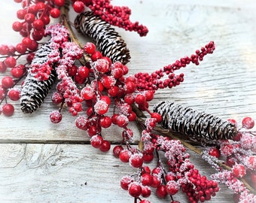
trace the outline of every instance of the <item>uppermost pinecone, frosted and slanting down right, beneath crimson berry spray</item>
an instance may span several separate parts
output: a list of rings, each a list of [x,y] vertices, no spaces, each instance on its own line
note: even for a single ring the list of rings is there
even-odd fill
[[[109,23],[95,16],[93,12],[79,14],[75,18],[75,28],[93,38],[99,51],[112,62],[129,62],[130,51],[126,48],[126,43]]]

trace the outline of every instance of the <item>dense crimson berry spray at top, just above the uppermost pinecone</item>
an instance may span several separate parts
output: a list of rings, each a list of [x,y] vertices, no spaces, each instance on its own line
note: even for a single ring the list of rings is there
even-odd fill
[[[96,16],[99,16],[105,22],[123,28],[129,31],[138,32],[140,36],[148,34],[148,28],[139,25],[138,22],[132,23],[130,21],[130,8],[126,6],[113,6],[110,0],[72,0],[73,8],[76,12],[81,13],[85,7],[90,8]]]

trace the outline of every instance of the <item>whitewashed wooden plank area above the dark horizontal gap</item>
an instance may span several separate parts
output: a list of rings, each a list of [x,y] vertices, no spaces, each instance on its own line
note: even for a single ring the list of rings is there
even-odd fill
[[[190,65],[181,70],[185,74],[184,83],[157,91],[154,101],[150,103],[151,108],[160,100],[168,99],[224,119],[256,118],[254,1],[246,1],[246,4],[239,1],[115,2],[130,6],[133,9],[132,20],[139,20],[150,30],[147,37],[140,38],[136,33],[117,29],[130,48],[130,74],[157,70],[181,56],[190,55],[209,41],[216,43],[215,53],[206,56],[199,67]],[[18,35],[14,35],[10,27],[16,20],[14,12],[18,5],[14,2],[4,4],[6,9],[0,14],[4,23],[0,38],[5,43],[15,44]],[[143,15],[142,11],[145,12]],[[13,117],[0,117],[1,143],[88,141],[87,135],[76,129],[75,118],[67,110],[63,111],[62,123],[50,123],[49,114],[57,109],[51,104],[50,95],[35,114],[22,114],[19,104],[15,108],[17,111]],[[132,125],[131,128],[136,127]],[[111,141],[120,140],[120,131],[116,127],[106,130],[105,135]]]

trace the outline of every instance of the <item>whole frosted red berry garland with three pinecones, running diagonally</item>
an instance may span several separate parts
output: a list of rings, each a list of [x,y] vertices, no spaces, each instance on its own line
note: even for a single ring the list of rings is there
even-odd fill
[[[254,132],[249,131],[254,127],[254,120],[245,117],[239,128],[234,120],[223,121],[168,102],[155,106],[155,112],[148,109],[157,89],[172,88],[183,82],[184,74],[175,75],[174,71],[191,62],[199,65],[204,56],[213,53],[213,41],[191,56],[151,74],[128,75],[126,62],[130,59],[129,51],[110,25],[145,36],[148,33],[145,26],[130,22],[130,8],[113,6],[106,0],[72,0],[74,10],[82,13],[75,20],[76,29],[96,41],[96,50],[93,43],[81,45],[66,23],[66,3],[69,1],[15,2],[22,5],[22,9],[17,11],[17,17],[22,22],[14,22],[13,29],[23,39],[15,47],[0,45],[0,54],[4,58],[0,62],[0,72],[9,74],[1,81],[0,105],[3,102],[5,105],[0,108],[0,114],[8,117],[14,114],[14,105],[8,102],[9,99],[20,100],[23,113],[32,113],[40,107],[53,82],[58,80],[52,102],[59,105],[59,110],[50,114],[52,123],[62,120],[61,111],[67,106],[70,114],[76,117],[78,129],[86,131],[90,144],[103,152],[111,148],[111,143],[104,139],[103,129],[111,125],[123,129],[122,142],[113,148],[113,153],[121,162],[129,162],[137,168],[136,173],[120,180],[120,186],[129,192],[134,202],[150,202],[145,198],[151,195],[152,188],[155,188],[159,198],[169,195],[172,203],[178,203],[175,201],[178,190],[184,192],[190,202],[209,201],[219,190],[218,182],[232,189],[239,202],[256,202],[251,187],[256,185],[256,140]],[[85,8],[90,12],[83,13]],[[60,17],[64,25],[47,26],[50,17]],[[106,44],[106,35],[115,41]],[[50,39],[38,44],[46,36]],[[115,47],[115,44],[120,47]],[[26,64],[17,64],[24,56]],[[22,89],[17,89],[17,83],[24,77]],[[114,103],[114,113],[108,116],[111,103]],[[142,119],[145,118],[142,111],[150,117]],[[131,145],[133,129],[128,127],[135,120],[143,128],[139,147]],[[169,133],[158,135],[157,132],[163,135],[164,132],[157,123],[175,132],[193,135],[205,150],[198,150],[181,138],[176,140]],[[213,147],[207,145],[209,139]],[[194,168],[184,146],[199,153],[218,170],[212,175],[214,180],[207,179]],[[218,159],[221,155],[226,157],[225,163]],[[157,166],[151,170],[145,164],[151,162],[154,156]],[[166,163],[162,162],[163,156]],[[251,177],[251,182],[245,181],[244,177]]]

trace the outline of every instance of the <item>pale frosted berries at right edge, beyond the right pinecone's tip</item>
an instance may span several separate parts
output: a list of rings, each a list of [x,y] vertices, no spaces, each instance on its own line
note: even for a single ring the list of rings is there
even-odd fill
[[[238,124],[235,120],[230,120],[236,128]],[[252,188],[256,188],[256,137],[251,129],[254,127],[254,120],[251,117],[245,117],[242,120],[242,127],[233,140],[226,140],[218,143],[216,147],[208,150],[210,156],[215,158],[224,158],[225,165],[230,167],[230,171],[218,169],[218,174],[212,175],[215,180],[225,183],[236,194],[236,202],[246,202],[249,190],[239,179],[242,178]],[[209,157],[204,157],[209,161]],[[245,193],[247,195],[245,195]],[[255,195],[249,195],[256,201]]]

